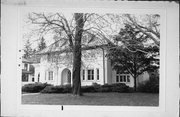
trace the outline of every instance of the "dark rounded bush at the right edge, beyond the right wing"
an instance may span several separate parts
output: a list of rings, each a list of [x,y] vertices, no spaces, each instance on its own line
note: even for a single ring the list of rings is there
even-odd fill
[[[149,81],[139,85],[138,91],[145,93],[159,93],[159,76],[154,74],[151,75]]]

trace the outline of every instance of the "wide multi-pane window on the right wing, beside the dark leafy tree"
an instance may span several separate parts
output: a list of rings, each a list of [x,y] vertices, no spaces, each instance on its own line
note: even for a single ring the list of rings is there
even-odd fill
[[[128,74],[116,74],[116,82],[130,82]]]

